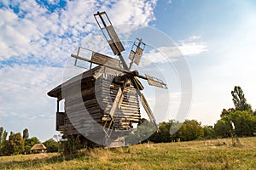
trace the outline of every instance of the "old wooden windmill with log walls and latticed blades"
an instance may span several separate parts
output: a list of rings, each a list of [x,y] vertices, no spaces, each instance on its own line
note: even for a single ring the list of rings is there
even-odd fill
[[[133,64],[140,64],[145,43],[138,38],[133,43],[129,54],[131,63],[128,66],[121,54],[125,48],[108,15],[97,12],[94,16],[113,54],[118,55],[119,59],[81,47],[77,54],[71,55],[75,58],[75,65],[82,60],[89,62],[90,68],[48,93],[49,96],[57,98],[56,130],[66,135],[85,136],[83,140],[86,142],[94,140],[98,144],[105,144],[110,137],[117,139],[120,135],[131,132],[132,123],[141,121],[139,102],[157,129],[154,115],[141,93],[143,85],[138,78],[159,88],[167,88],[166,84],[160,79],[131,71]],[[87,56],[82,56],[82,51],[86,51]],[[93,64],[96,67],[92,68]],[[59,110],[61,99],[65,99],[64,112]]]

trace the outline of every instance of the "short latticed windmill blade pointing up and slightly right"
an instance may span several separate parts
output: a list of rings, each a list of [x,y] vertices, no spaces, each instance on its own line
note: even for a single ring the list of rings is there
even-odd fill
[[[140,64],[145,46],[146,44],[143,42],[142,39],[137,38],[133,43],[131,52],[129,54],[129,59],[131,59],[129,71],[131,70],[131,66],[133,63],[135,63],[136,65]]]

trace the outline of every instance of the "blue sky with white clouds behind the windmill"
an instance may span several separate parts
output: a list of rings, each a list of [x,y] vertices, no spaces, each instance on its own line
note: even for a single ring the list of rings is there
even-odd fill
[[[108,13],[127,53],[134,38],[131,32],[137,32],[149,44],[143,64],[135,68],[167,82],[167,93],[154,88],[143,92],[150,106],[158,102],[167,108],[164,116],[154,111],[158,122],[175,118],[182,107],[183,77],[179,76],[183,74],[178,74],[182,70],[176,68],[182,59],[192,82],[188,84],[192,102],[189,111],[183,113],[185,118],[214,125],[223,109],[234,107],[230,92],[235,86],[241,86],[247,102],[256,108],[253,0],[3,0],[0,127],[9,132],[28,128],[30,136],[41,141],[53,137],[56,102],[47,93],[70,76],[65,74],[67,65],[73,63],[70,54],[75,54],[79,46],[111,54],[93,17],[96,11]],[[148,34],[139,33],[141,27]],[[150,32],[156,32],[151,39]],[[172,45],[165,44],[165,37],[172,40]],[[173,57],[170,47],[181,52],[179,57]],[[152,65],[154,69],[150,69]],[[164,94],[167,103],[160,101]]]

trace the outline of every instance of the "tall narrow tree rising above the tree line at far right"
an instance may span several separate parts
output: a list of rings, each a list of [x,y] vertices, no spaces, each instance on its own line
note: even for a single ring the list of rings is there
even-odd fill
[[[252,106],[247,104],[247,99],[239,86],[235,86],[234,91],[231,91],[231,94],[236,111],[249,111],[250,113],[253,113]]]

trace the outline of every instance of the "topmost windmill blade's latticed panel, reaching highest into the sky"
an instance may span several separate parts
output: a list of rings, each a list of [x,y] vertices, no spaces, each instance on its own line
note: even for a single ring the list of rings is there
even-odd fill
[[[116,55],[125,51],[123,44],[120,42],[118,35],[113,29],[108,14],[106,14],[106,12],[97,12],[97,14],[94,14],[94,17],[98,26],[101,28],[104,37],[108,41],[110,48],[113,50],[113,54]]]

